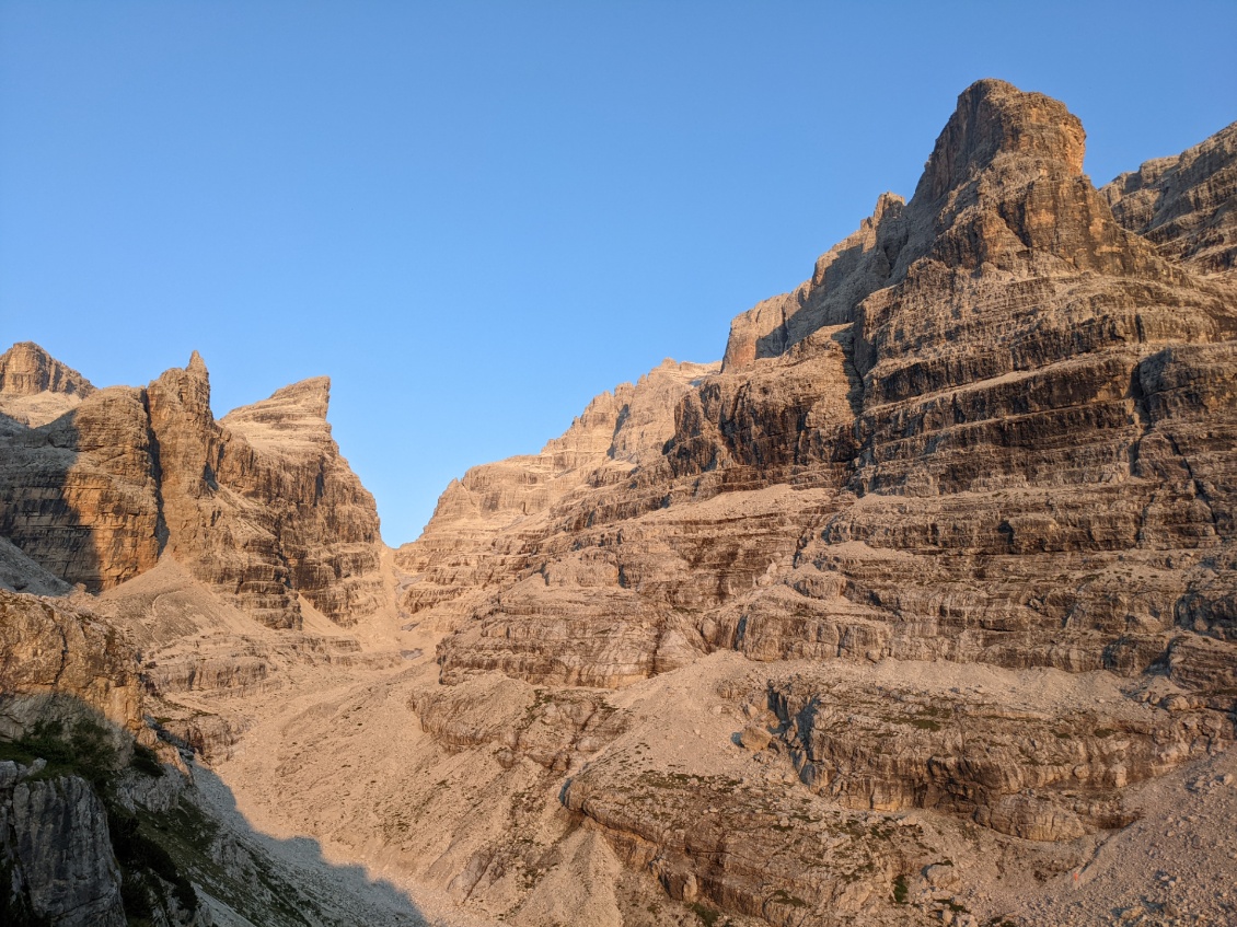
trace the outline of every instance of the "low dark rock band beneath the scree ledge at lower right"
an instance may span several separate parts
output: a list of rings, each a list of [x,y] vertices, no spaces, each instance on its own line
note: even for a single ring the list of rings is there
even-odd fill
[[[771,685],[769,705],[813,791],[850,808],[946,810],[1028,840],[1122,827],[1122,789],[1233,738],[1216,712],[1106,709],[1068,688],[1044,711],[1019,703],[1027,681],[1008,682],[985,697],[802,675]]]

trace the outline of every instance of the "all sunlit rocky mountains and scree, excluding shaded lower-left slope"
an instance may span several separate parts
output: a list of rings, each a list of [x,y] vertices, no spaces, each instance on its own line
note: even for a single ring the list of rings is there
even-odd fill
[[[255,875],[306,836],[444,923],[1232,921],[1233,140],[1096,189],[1065,105],[981,80],[720,365],[474,467],[393,556],[325,379],[216,421],[197,355],[95,391],[17,345],[0,684],[216,772],[193,833],[288,838],[169,844],[241,927],[330,908]]]

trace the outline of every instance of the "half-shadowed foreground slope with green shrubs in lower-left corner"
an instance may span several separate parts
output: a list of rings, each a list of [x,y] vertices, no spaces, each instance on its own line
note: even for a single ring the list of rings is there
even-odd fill
[[[213,593],[198,593],[209,607]],[[174,707],[136,627],[99,604],[0,591],[0,923],[424,925],[238,819],[173,719],[153,719]]]

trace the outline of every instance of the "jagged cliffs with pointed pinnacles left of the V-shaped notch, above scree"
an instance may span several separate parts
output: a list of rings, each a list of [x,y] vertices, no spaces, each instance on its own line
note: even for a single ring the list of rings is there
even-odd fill
[[[272,627],[299,627],[302,596],[341,624],[376,608],[377,512],[330,438],[328,379],[216,423],[197,352],[103,391],[33,346],[5,357],[24,397],[85,396],[0,435],[0,534],[25,556],[101,591],[168,555]]]

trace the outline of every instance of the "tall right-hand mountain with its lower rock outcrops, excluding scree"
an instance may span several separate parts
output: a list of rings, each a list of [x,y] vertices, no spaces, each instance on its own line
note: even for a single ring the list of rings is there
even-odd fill
[[[860,811],[965,818],[998,855],[1127,823],[1129,785],[1233,738],[1232,138],[1100,192],[1063,104],[969,88],[912,199],[883,195],[810,281],[740,315],[720,371],[663,367],[625,394],[661,391],[640,454],[616,452],[627,419],[606,394],[541,455],[448,488],[398,554],[404,607],[445,632],[442,681],[622,687],[737,650],[769,666],[752,702],[768,723],[737,743],[828,800],[829,839]],[[1121,695],[1019,708],[785,660],[982,664],[1008,691],[1068,674]],[[866,869],[787,863],[761,895],[771,869],[751,859],[810,855],[793,827],[703,817],[721,780],[649,770],[633,797],[614,764],[563,801],[674,897],[833,923],[910,871],[889,837]],[[761,795],[748,812],[788,816]],[[740,853],[736,832],[768,847]],[[1045,853],[1045,871],[1070,865]]]

